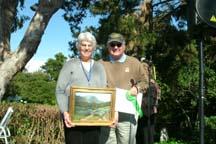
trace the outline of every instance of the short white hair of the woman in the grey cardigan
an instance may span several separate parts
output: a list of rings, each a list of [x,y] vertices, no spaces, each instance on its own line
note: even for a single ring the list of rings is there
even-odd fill
[[[93,49],[96,48],[97,41],[96,41],[95,37],[90,32],[82,32],[79,34],[79,36],[77,38],[77,42],[76,42],[76,48],[77,49],[79,49],[80,43],[82,41],[92,42]]]

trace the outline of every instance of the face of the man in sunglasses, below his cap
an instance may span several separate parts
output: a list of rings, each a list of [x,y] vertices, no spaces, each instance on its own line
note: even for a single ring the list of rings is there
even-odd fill
[[[121,56],[125,51],[125,44],[117,41],[113,41],[108,44],[108,48],[109,48],[110,55],[114,59],[118,60],[121,58]]]

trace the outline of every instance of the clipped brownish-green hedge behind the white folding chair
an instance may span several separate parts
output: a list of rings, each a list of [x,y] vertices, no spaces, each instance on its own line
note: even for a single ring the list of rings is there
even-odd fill
[[[8,124],[11,132],[10,144],[64,143],[63,123],[56,106],[1,102],[1,119],[9,106],[14,109]]]

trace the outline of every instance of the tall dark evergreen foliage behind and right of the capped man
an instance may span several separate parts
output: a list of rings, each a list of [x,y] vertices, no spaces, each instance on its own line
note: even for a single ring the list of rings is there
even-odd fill
[[[198,46],[194,37],[198,34],[192,29],[193,1],[145,0],[139,6],[136,0],[101,0],[95,1],[90,10],[101,15],[99,28],[90,29],[101,47],[106,47],[109,33],[120,32],[126,38],[127,54],[154,62],[162,89],[159,124],[177,130],[171,137],[191,141],[199,121]],[[206,116],[212,116],[216,101],[215,38],[205,35],[204,40],[205,108]],[[192,141],[197,143],[197,139]]]

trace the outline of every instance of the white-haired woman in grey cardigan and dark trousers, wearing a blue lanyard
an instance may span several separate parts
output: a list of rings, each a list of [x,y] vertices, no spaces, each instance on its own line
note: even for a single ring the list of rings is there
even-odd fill
[[[80,33],[76,43],[79,58],[65,62],[60,71],[56,99],[63,116],[66,144],[97,144],[99,143],[99,126],[75,126],[70,119],[68,110],[71,86],[106,87],[106,73],[102,64],[94,61],[91,56],[96,47],[96,39],[89,32]]]

